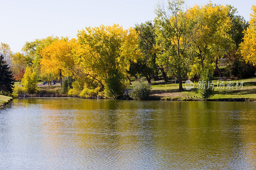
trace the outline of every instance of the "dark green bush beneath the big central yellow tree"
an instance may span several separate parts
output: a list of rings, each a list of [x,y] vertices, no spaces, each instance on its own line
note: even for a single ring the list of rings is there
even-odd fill
[[[112,99],[124,94],[124,86],[120,74],[114,73],[112,77],[106,80],[105,92]]]

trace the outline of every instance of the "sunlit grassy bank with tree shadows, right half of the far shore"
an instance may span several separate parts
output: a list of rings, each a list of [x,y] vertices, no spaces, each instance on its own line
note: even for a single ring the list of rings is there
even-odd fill
[[[231,81],[231,82],[230,82]],[[243,88],[232,89],[228,84],[236,82],[243,83]],[[219,81],[220,82],[220,81]],[[225,85],[224,89],[217,86],[218,80],[214,80],[215,95],[211,101],[255,101],[256,100],[256,77],[247,79],[230,78],[221,81]],[[136,81],[132,82],[136,85]],[[202,100],[197,93],[197,85],[191,90],[185,90],[185,82],[182,84],[184,91],[179,91],[179,84],[164,83],[162,81],[152,82],[152,90],[149,100]],[[132,86],[130,86],[132,87]]]

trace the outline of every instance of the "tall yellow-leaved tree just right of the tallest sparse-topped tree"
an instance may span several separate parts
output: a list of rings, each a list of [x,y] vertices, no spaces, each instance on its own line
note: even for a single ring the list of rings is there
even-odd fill
[[[200,28],[197,30],[197,38],[192,43],[196,57],[190,77],[195,73],[200,75],[206,66],[216,68],[222,77],[217,61],[218,58],[223,57],[224,49],[232,41],[228,34],[231,28],[229,10],[227,6],[212,3],[202,7],[195,5],[189,9],[192,18],[196,18]]]

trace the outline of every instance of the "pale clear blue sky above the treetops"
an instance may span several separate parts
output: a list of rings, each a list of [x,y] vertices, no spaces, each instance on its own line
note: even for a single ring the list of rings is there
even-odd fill
[[[188,6],[207,0],[185,0]],[[155,17],[157,0],[0,0],[0,42],[18,52],[26,41],[50,35],[76,38],[85,26],[122,25],[125,29]],[[212,0],[231,4],[246,20],[255,0]]]

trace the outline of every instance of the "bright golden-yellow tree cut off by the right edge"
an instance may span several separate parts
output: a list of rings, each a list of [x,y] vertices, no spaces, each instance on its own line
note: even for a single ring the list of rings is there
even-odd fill
[[[256,5],[252,5],[249,27],[244,30],[243,42],[240,44],[242,56],[246,62],[256,65]]]

